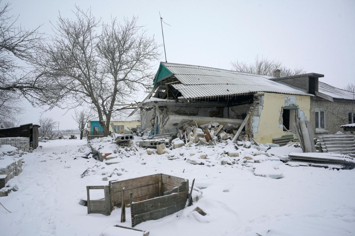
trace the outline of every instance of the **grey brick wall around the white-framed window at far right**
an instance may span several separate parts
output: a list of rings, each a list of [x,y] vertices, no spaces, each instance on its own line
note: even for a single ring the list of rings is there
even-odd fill
[[[348,112],[355,112],[354,100],[334,99],[334,102],[320,97],[311,97],[310,122],[316,135],[335,134],[337,131],[345,132],[340,125],[348,124]],[[327,133],[316,132],[315,112],[326,111]]]

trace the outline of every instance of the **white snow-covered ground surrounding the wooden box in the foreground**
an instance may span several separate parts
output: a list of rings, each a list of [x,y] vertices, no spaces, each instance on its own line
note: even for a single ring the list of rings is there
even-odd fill
[[[169,160],[165,154],[147,155],[146,150],[139,150],[133,156],[118,157],[118,164],[106,165],[79,157],[89,152],[86,140],[52,140],[40,145],[43,148],[23,156],[23,172],[9,181],[19,190],[0,198],[12,212],[0,206],[0,235],[99,236],[109,226],[130,226],[130,208],[126,209],[127,221],[120,223],[120,208],[105,216],[87,214],[87,207],[79,204],[86,199],[87,185],[108,184],[102,180],[103,173],[111,175],[108,180],[155,173],[187,178],[190,185],[196,179],[195,186],[203,194],[193,206],[136,226],[149,230],[151,236],[355,235],[355,169],[338,171],[278,163],[283,178],[272,179],[256,176],[251,166],[192,165],[182,158],[186,153]],[[272,148],[268,153],[291,151],[300,150]],[[197,160],[200,154],[190,159]],[[93,169],[81,178],[87,168]],[[196,206],[207,215],[193,212]]]

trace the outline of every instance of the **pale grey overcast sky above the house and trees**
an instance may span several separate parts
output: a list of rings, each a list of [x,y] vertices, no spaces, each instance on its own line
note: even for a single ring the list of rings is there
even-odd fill
[[[4,1],[3,1],[4,2]],[[324,74],[321,81],[343,88],[354,83],[355,1],[12,1],[13,15],[26,28],[40,24],[51,34],[49,21],[59,11],[72,17],[74,2],[92,8],[96,17],[110,21],[138,16],[149,35],[163,43],[168,62],[231,69],[235,60],[252,62],[256,55]],[[161,49],[163,52],[163,49]],[[164,55],[164,54],[162,54]],[[164,58],[162,57],[162,61]],[[158,69],[158,63],[157,67]],[[144,96],[144,92],[138,94]],[[23,123],[36,123],[43,111],[27,103]],[[76,128],[71,111],[53,109],[43,116],[60,122],[60,129]]]

